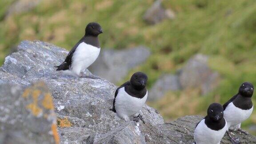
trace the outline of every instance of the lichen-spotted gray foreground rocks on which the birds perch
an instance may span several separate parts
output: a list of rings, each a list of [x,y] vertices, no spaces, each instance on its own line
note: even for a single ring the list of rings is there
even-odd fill
[[[0,144],[48,144],[59,139],[65,144],[194,142],[193,129],[201,116],[164,123],[159,112],[145,105],[140,111],[145,124],[125,123],[109,111],[115,85],[104,79],[75,78],[55,71],[54,66],[67,53],[52,44],[23,41],[18,52],[5,58],[0,68]],[[255,136],[234,134],[244,143],[256,141]],[[222,142],[230,143],[227,136]]]

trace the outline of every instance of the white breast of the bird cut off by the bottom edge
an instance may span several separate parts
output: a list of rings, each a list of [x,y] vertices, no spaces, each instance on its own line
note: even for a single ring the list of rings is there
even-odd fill
[[[204,119],[200,121],[194,132],[194,139],[196,144],[220,144],[225,132],[228,129],[227,122],[224,128],[215,131],[208,128],[204,123]]]

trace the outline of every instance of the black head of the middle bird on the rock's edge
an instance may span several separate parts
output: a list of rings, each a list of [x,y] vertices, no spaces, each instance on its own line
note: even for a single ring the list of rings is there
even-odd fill
[[[130,83],[135,89],[143,89],[146,87],[148,76],[143,72],[135,72],[130,80]]]

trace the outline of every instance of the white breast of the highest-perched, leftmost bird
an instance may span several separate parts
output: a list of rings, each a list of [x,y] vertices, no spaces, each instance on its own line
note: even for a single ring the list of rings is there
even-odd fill
[[[72,56],[71,70],[79,75],[97,59],[99,54],[100,48],[84,42],[79,44]]]

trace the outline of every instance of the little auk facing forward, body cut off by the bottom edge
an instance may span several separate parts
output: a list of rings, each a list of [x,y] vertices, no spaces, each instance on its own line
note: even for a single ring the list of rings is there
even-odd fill
[[[207,110],[207,116],[196,125],[194,139],[196,144],[220,144],[227,129],[222,105],[213,103]]]

